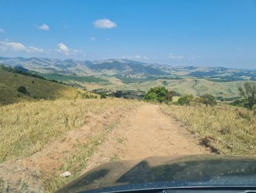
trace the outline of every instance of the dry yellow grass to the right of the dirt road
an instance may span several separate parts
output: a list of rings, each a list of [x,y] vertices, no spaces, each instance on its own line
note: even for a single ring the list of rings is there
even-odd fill
[[[227,155],[256,155],[256,114],[217,105],[162,105],[161,109],[200,135],[201,144]]]

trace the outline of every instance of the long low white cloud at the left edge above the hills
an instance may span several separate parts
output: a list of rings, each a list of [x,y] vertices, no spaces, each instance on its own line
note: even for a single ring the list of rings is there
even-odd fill
[[[19,42],[9,42],[8,41],[0,41],[0,50],[1,51],[15,51],[15,52],[44,52],[44,49],[40,49],[38,47],[29,46],[26,47],[22,43]]]

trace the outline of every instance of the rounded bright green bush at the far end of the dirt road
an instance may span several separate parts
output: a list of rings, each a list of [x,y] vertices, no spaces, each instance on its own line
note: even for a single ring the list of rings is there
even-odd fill
[[[150,88],[147,94],[144,96],[145,101],[149,102],[170,102],[175,95],[173,91],[168,91],[164,86],[157,86]]]

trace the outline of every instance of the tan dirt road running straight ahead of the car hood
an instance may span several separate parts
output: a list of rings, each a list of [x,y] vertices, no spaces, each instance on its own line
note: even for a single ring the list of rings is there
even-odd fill
[[[113,160],[130,160],[149,156],[209,153],[186,128],[160,111],[158,105],[146,104],[120,119],[95,154],[91,167]]]

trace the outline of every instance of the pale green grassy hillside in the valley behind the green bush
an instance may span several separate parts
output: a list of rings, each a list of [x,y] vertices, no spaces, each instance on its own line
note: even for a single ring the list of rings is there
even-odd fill
[[[83,84],[88,89],[106,88],[113,90],[138,90],[148,91],[155,86],[165,86],[167,89],[176,91],[180,95],[204,95],[210,93],[214,96],[222,98],[232,98],[239,96],[238,86],[241,86],[246,81],[232,81],[232,82],[212,82],[207,79],[158,79],[149,81],[138,81],[127,84]]]

